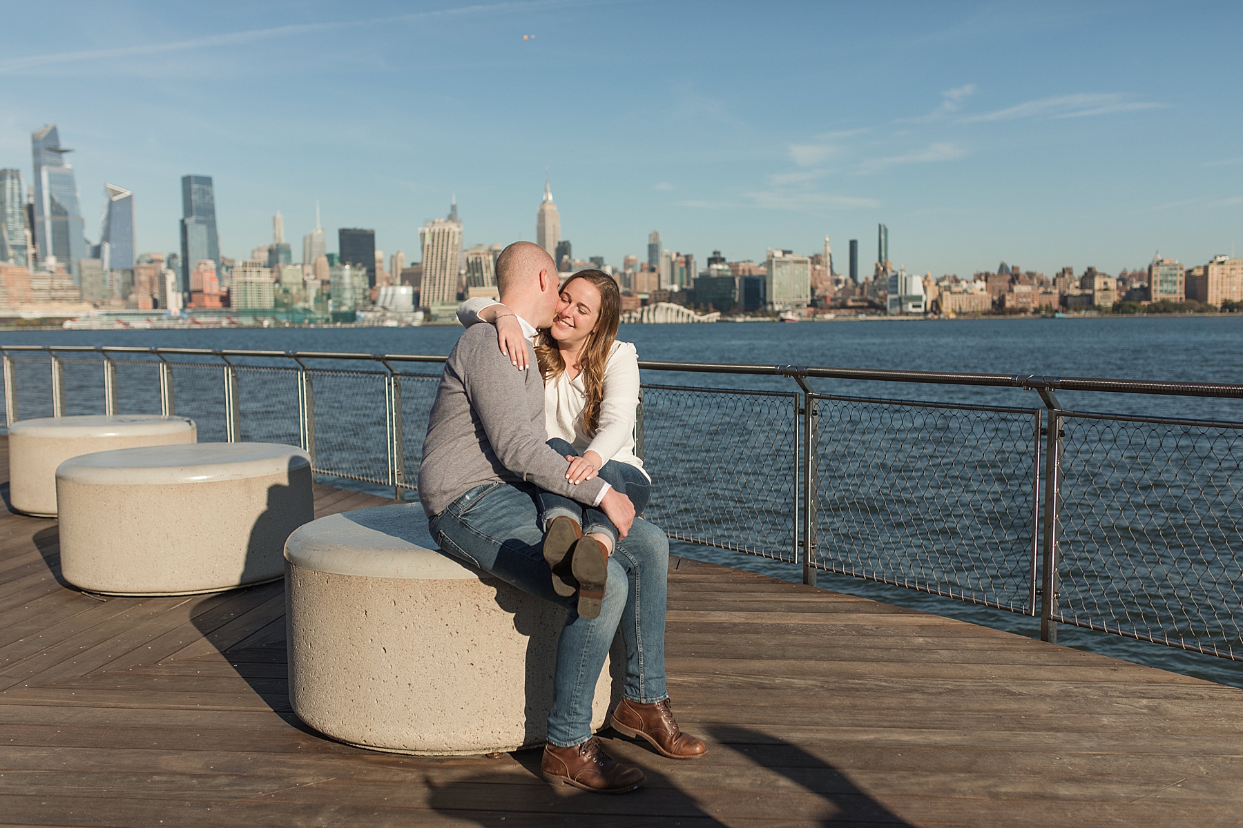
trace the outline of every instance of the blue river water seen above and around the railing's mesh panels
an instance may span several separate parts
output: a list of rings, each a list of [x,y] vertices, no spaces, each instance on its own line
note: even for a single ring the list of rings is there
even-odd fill
[[[461,329],[291,328],[128,331],[5,331],[5,345],[131,345],[211,349],[447,354]],[[1202,380],[1243,384],[1243,314],[1206,318],[983,319],[940,322],[721,323],[624,325],[640,359],[824,365],[861,369],[1044,374],[1054,376]],[[428,366],[433,367],[433,366]],[[796,391],[784,377],[645,372],[649,384]],[[835,395],[932,400],[1038,408],[1021,389],[863,384],[813,380]],[[1243,421],[1243,400],[1059,392],[1064,408],[1142,416]],[[1243,451],[1239,448],[1236,452]],[[1237,458],[1236,458],[1237,463]],[[658,489],[660,480],[656,480]],[[1233,485],[1237,485],[1236,480]],[[740,569],[798,580],[799,567],[741,552],[675,541],[677,552]],[[1229,547],[1238,552],[1241,545]],[[1023,636],[1039,622],[902,587],[820,574],[827,588],[961,618]],[[1233,590],[1238,585],[1222,585]],[[1119,636],[1060,626],[1059,643],[1243,686],[1243,664]]]

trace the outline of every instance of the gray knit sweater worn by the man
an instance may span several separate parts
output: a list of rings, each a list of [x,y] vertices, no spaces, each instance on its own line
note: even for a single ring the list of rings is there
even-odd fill
[[[497,348],[492,325],[472,325],[449,354],[419,466],[419,500],[429,518],[496,480],[528,480],[585,504],[599,498],[603,480],[573,485],[569,463],[544,444],[543,379],[527,349],[531,366],[520,371]]]

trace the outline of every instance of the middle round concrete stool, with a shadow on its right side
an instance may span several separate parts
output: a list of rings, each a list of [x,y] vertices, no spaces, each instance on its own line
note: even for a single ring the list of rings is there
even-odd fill
[[[56,469],[61,571],[104,595],[219,592],[285,575],[314,519],[311,458],[277,443],[195,443],[73,457]]]

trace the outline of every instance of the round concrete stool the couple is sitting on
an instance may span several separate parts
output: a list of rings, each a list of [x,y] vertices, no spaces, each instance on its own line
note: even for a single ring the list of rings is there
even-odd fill
[[[564,608],[440,552],[418,504],[321,518],[285,557],[290,703],[305,722],[420,756],[544,742]],[[605,662],[593,730],[613,684]]]

